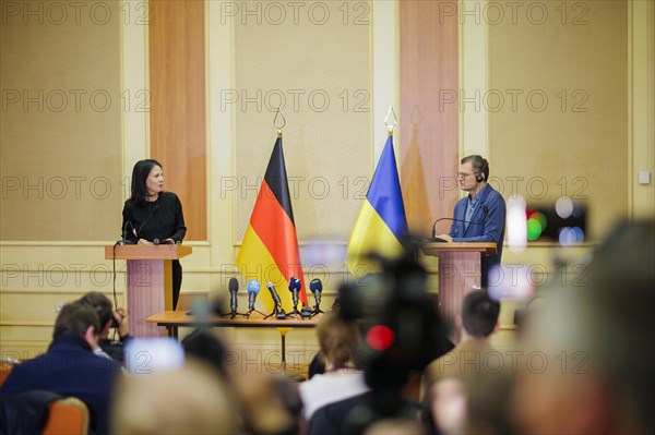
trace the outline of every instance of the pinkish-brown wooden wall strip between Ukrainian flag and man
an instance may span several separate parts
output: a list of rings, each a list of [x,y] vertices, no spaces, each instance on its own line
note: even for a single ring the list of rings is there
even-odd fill
[[[409,228],[427,235],[458,198],[458,24],[445,19],[452,2],[400,2],[401,184]],[[438,227],[448,232],[450,226]]]

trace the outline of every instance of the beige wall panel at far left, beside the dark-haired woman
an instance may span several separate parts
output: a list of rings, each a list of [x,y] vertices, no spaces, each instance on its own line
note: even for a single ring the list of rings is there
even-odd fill
[[[2,241],[120,234],[121,93],[117,2],[2,1]],[[131,105],[131,107],[128,107]]]

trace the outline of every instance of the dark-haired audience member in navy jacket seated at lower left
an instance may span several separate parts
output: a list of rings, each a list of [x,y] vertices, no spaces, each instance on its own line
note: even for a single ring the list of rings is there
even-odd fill
[[[109,400],[120,366],[93,354],[99,331],[95,310],[79,301],[66,304],[57,316],[48,351],[14,366],[1,395],[38,389],[76,397],[88,407],[91,430],[107,433]]]

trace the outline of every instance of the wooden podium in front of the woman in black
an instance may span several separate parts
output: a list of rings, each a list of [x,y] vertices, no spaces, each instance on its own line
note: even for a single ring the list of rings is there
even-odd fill
[[[128,261],[128,311],[130,335],[164,336],[164,328],[146,323],[147,316],[172,310],[172,259],[191,254],[191,247],[178,244],[108,245],[105,259]]]

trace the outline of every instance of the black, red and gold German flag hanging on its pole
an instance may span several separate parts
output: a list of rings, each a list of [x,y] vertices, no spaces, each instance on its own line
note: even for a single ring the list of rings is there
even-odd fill
[[[291,277],[300,279],[299,300],[302,305],[309,305],[298,253],[298,237],[284,165],[282,137],[275,141],[266,174],[237,255],[237,267],[246,280],[257,279],[262,287],[269,281],[273,282],[287,313],[293,311],[289,280]],[[271,294],[263,291],[260,298],[266,309],[272,311]]]

